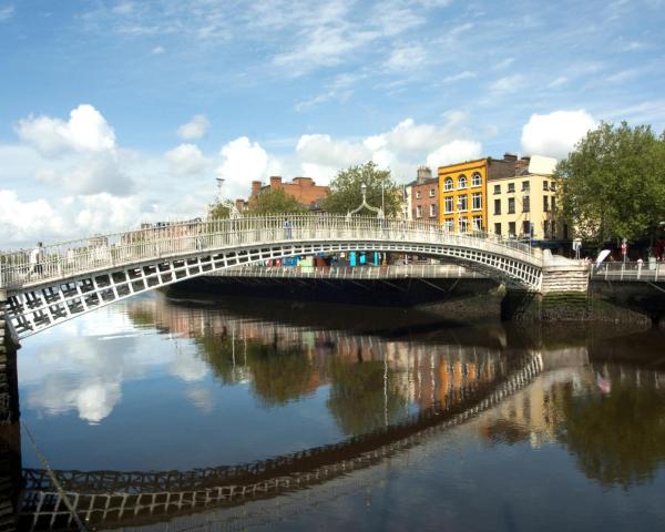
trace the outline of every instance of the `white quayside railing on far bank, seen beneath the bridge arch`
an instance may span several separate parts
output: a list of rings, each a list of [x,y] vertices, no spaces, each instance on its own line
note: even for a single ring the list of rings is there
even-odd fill
[[[446,264],[390,266],[257,266],[242,265],[211,274],[217,277],[272,277],[314,279],[485,278],[487,276]]]

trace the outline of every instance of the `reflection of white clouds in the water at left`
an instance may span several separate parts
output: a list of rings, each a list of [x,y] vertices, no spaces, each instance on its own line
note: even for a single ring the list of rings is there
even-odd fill
[[[45,416],[75,411],[99,423],[120,403],[127,381],[162,374],[192,383],[209,374],[188,341],[136,334],[124,311],[102,311],[103,319],[84,316],[34,337],[41,341],[25,341],[19,375],[28,408]],[[203,411],[212,408],[209,393],[187,397]]]

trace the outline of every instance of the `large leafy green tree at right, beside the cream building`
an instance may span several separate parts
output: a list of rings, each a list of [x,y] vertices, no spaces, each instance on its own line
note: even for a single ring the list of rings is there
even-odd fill
[[[665,216],[665,136],[647,125],[602,123],[556,166],[560,214],[575,236],[601,245],[638,239]]]

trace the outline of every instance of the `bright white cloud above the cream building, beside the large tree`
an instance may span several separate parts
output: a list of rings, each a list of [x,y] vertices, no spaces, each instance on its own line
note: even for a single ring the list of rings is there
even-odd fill
[[[522,127],[522,150],[530,155],[567,156],[596,121],[584,110],[532,114]]]

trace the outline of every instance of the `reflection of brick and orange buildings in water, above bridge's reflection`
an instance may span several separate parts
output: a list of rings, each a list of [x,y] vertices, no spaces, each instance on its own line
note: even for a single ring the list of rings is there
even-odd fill
[[[464,397],[466,389],[492,381],[505,372],[508,360],[498,347],[442,345],[408,339],[385,339],[330,329],[313,329],[269,320],[235,316],[225,309],[173,305],[164,298],[130,303],[130,316],[141,325],[194,340],[214,339],[200,354],[208,364],[226,349],[231,381],[256,379],[247,361],[249,346],[268,346],[275,352],[300,350],[309,360],[311,375],[300,380],[298,396],[331,383],[330,361],[348,365],[380,362],[386,386],[419,408],[448,407]],[[211,345],[212,344],[212,345]],[[215,359],[215,360],[214,360]],[[297,397],[297,396],[296,396]]]

